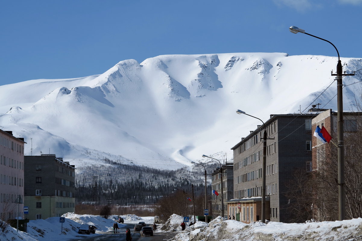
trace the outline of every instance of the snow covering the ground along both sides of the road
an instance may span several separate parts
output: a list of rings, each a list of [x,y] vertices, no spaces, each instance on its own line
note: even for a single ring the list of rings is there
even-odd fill
[[[154,217],[139,217],[136,215],[120,215],[125,223],[137,224],[139,221],[153,223]],[[73,213],[64,214],[66,218],[61,233],[59,218],[48,218],[46,220],[32,220],[28,223],[28,233],[16,232],[9,227],[4,233],[0,232],[0,240],[12,241],[65,241],[76,236],[89,237],[87,234],[78,234],[80,224],[95,225],[97,227],[94,236],[102,235],[112,230],[117,215],[109,219],[94,215],[77,215]],[[319,223],[279,223],[268,224],[255,222],[244,224],[236,220],[222,220],[218,217],[210,223],[202,221],[181,231],[183,218],[176,214],[170,216],[162,227],[156,232],[175,232],[176,236],[169,241],[362,241],[362,218],[325,221]],[[122,224],[118,224],[122,227]]]

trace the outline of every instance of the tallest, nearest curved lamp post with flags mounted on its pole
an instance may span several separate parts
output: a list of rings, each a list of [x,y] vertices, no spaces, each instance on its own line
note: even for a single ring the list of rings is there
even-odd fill
[[[336,49],[338,55],[338,63],[337,63],[337,140],[338,140],[338,219],[345,219],[345,182],[344,182],[344,137],[343,137],[343,100],[342,100],[342,63],[340,60],[339,52],[334,46],[333,43],[328,40],[319,38],[312,34],[306,33],[304,29],[299,29],[299,27],[291,26],[289,28],[293,34],[303,33],[309,36],[312,36],[317,39],[321,39],[325,42],[332,44],[332,46]],[[332,76],[335,74],[332,74]],[[352,74],[348,74],[352,75]]]

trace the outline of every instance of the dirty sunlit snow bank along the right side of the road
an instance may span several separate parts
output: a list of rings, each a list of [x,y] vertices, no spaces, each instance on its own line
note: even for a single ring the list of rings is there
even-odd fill
[[[197,222],[201,223],[201,222]],[[178,233],[170,241],[329,241],[362,240],[362,219],[325,221],[320,223],[254,222],[244,224],[221,217],[212,220],[208,227],[191,226]]]

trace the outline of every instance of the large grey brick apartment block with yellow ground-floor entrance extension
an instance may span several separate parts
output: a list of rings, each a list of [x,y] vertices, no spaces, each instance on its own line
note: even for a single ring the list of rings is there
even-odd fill
[[[313,110],[312,110],[313,111]],[[288,183],[298,169],[311,167],[312,118],[316,112],[270,115],[265,122],[266,141],[266,215],[271,221],[289,222]],[[234,198],[228,202],[240,221],[250,223],[261,218],[262,136],[264,126],[233,146]]]

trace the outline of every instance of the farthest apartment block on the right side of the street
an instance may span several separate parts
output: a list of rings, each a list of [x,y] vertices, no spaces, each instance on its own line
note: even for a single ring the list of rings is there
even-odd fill
[[[214,172],[211,173],[211,185],[212,189],[217,191],[219,195],[216,197],[212,195],[212,215],[214,217],[221,216],[221,198],[223,196],[224,201],[224,217],[227,219],[227,205],[226,202],[228,199],[233,198],[233,163],[226,162],[222,165],[222,174],[223,174],[223,195],[221,192],[221,173],[220,168],[216,168]]]

